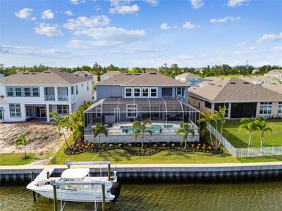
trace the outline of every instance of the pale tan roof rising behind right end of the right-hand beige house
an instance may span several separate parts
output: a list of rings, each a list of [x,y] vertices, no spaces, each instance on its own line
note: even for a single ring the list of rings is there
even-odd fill
[[[239,79],[243,79],[246,82],[251,82],[252,84],[258,85],[258,86],[265,86],[266,84],[280,84],[281,82],[278,80],[277,77],[274,76],[240,76]]]

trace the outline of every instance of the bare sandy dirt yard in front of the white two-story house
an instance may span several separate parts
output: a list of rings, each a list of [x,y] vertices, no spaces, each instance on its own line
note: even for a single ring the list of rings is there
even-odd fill
[[[23,153],[23,146],[16,147],[15,140],[25,134],[30,143],[27,153],[44,155],[58,148],[60,134],[54,124],[44,122],[17,122],[0,124],[0,153]]]

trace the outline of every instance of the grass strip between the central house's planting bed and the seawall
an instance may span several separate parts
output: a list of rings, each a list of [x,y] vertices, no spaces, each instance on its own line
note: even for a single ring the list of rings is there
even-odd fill
[[[116,149],[100,153],[85,152],[79,155],[66,155],[63,153],[63,146],[54,159],[49,162],[52,164],[64,164],[66,160],[71,161],[95,161],[109,160],[114,164],[138,164],[138,163],[216,163],[216,162],[239,162],[230,153],[224,151],[222,154],[215,155],[212,153],[184,153],[176,150],[167,150],[151,156],[136,156],[128,153],[123,149]]]

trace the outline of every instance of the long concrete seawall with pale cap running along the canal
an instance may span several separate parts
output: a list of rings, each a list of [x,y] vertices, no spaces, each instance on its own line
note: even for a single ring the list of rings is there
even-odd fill
[[[0,167],[0,180],[5,181],[27,181],[31,173],[35,177],[44,167],[55,168],[53,177],[59,177],[66,165],[25,165]],[[78,166],[72,166],[78,167]],[[100,167],[80,165],[79,167],[90,167],[92,176],[100,175]],[[257,162],[257,163],[225,163],[225,164],[154,164],[154,165],[111,165],[111,172],[116,170],[120,180],[223,180],[223,179],[251,179],[251,178],[278,178],[282,177],[282,162]],[[102,166],[102,175],[106,176],[107,168]]]

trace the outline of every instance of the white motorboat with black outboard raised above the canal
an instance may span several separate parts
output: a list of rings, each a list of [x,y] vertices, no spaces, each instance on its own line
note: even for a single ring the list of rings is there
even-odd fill
[[[90,177],[89,172],[89,168],[68,169],[63,171],[61,177],[35,179],[35,181],[27,185],[27,188],[46,198],[54,199],[51,181],[56,181],[58,184],[62,182],[63,185],[56,186],[56,197],[58,200],[98,203],[102,202],[102,185],[93,185],[93,183],[96,182],[105,185],[105,201],[116,203],[121,191],[121,184],[117,181],[116,172],[114,172],[114,177],[111,177],[111,181],[108,180],[108,177]],[[83,183],[83,185],[80,185],[80,182]],[[85,183],[87,185],[85,185]]]

